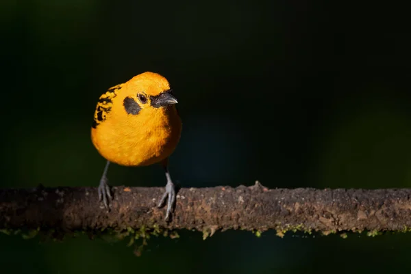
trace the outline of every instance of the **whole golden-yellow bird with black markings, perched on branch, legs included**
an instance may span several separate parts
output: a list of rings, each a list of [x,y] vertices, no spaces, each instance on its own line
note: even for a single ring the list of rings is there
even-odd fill
[[[168,198],[166,220],[175,203],[175,184],[171,180],[168,159],[182,131],[176,98],[169,82],[160,74],[144,72],[126,83],[111,87],[101,95],[91,128],[95,148],[107,163],[99,184],[99,201],[108,208],[112,199],[108,187],[108,165],[128,167],[162,163],[166,191],[158,207]]]

